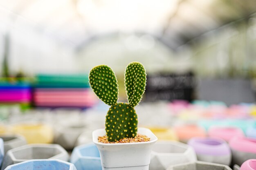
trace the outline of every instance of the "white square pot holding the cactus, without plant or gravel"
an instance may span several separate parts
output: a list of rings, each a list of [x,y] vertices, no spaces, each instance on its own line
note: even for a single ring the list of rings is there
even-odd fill
[[[92,140],[99,149],[102,170],[148,170],[157,137],[147,128],[138,128],[138,134],[146,135],[150,141],[103,144],[98,137],[106,135],[105,129],[94,130]]]

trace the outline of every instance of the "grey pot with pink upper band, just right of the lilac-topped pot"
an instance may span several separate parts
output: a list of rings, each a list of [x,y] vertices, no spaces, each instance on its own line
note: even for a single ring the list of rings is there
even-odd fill
[[[256,139],[233,137],[229,141],[232,151],[232,163],[241,166],[248,159],[256,159]]]

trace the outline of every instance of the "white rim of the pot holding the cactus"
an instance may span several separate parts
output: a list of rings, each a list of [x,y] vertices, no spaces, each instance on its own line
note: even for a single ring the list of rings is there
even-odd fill
[[[148,131],[150,131],[150,132],[152,133],[151,135],[153,136],[153,140],[150,139],[150,141],[146,141],[146,142],[132,142],[132,143],[130,142],[130,143],[104,144],[104,143],[100,143],[100,142],[98,141],[98,137],[99,137],[99,136],[97,136],[97,134],[98,134],[99,132],[104,132],[104,134],[106,135],[105,129],[104,129],[104,128],[101,128],[101,129],[94,130],[94,131],[92,132],[92,141],[94,142],[94,144],[101,145],[101,146],[143,145],[143,144],[155,143],[155,142],[157,141],[157,137],[154,135],[154,133],[153,133],[150,129],[148,129],[148,128],[138,128],[138,132],[139,132],[140,130],[148,130]]]

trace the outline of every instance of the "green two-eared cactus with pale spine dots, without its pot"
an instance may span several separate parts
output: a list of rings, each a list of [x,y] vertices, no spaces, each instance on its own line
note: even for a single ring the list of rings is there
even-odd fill
[[[110,142],[137,135],[138,118],[134,107],[139,104],[145,91],[144,66],[139,62],[128,64],[124,81],[128,103],[117,102],[117,78],[109,66],[95,66],[89,75],[90,86],[94,93],[110,106],[105,122],[106,136]]]

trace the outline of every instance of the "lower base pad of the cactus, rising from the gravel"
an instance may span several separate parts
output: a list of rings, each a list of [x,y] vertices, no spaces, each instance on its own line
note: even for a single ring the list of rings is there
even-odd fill
[[[106,115],[106,135],[108,141],[119,141],[137,135],[137,114],[129,104],[118,102],[110,107]]]

